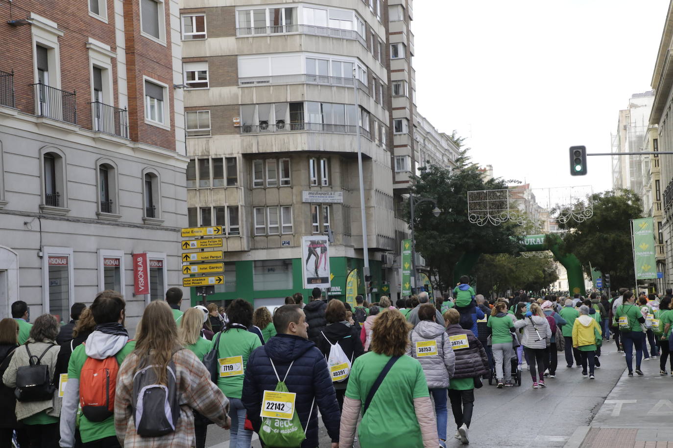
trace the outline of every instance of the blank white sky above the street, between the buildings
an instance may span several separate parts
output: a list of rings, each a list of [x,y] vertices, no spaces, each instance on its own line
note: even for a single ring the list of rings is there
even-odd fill
[[[417,106],[472,160],[531,187],[612,187],[610,156],[571,177],[569,146],[610,152],[618,111],[651,89],[668,0],[416,0]]]

